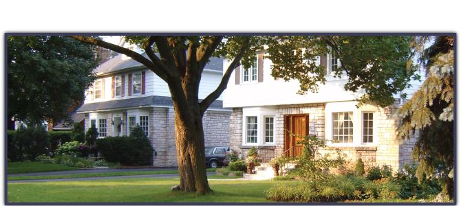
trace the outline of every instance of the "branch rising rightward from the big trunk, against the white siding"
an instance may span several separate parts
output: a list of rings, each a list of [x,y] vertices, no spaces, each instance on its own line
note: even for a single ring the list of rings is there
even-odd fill
[[[246,47],[248,47],[248,43],[250,43],[250,38],[247,38],[246,41],[244,41],[242,47],[240,47],[239,53],[237,53],[234,60],[230,63],[229,67],[227,67],[226,73],[224,73],[224,76],[222,76],[222,80],[219,83],[219,86],[215,89],[215,91],[210,93],[204,100],[202,100],[202,102],[199,103],[200,113],[202,113],[202,115],[210,106],[210,104],[215,102],[215,100],[219,98],[219,95],[221,95],[224,89],[227,88],[227,83],[229,82],[230,74],[240,64],[240,60],[242,59],[242,56],[244,56]]]

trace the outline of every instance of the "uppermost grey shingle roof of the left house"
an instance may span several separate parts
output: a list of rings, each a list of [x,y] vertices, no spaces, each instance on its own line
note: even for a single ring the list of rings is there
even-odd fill
[[[158,56],[158,54],[156,55]],[[102,65],[99,65],[99,67],[96,67],[94,71],[96,71],[96,73],[107,73],[109,71],[117,71],[117,70],[129,68],[129,67],[142,66],[140,62],[133,60],[131,58],[122,60],[122,56],[123,56],[122,54],[119,54],[115,56],[114,58],[112,58],[111,60],[107,60]],[[144,56],[147,59],[150,59],[147,56],[146,52],[144,52],[142,56]],[[210,62],[208,62],[205,65],[205,69],[222,71],[222,61],[223,61],[223,58],[212,57],[210,58]]]

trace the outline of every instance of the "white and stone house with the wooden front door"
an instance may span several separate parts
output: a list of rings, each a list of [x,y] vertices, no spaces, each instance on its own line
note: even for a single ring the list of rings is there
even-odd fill
[[[345,91],[347,76],[334,78],[332,67],[341,64],[331,55],[317,63],[325,66],[326,84],[319,84],[318,93],[298,95],[299,81],[274,79],[270,76],[269,59],[257,53],[256,67],[244,71],[237,67],[224,91],[224,108],[232,108],[230,116],[230,148],[245,157],[255,146],[264,161],[281,154],[300,155],[294,134],[338,140],[331,144],[343,150],[348,159],[361,157],[365,165],[391,165],[396,169],[411,161],[414,139],[397,142],[396,122],[389,115],[399,107],[386,108],[366,104],[356,108],[354,99],[360,93]],[[224,68],[230,62],[224,59]],[[418,83],[420,82],[412,82]]]

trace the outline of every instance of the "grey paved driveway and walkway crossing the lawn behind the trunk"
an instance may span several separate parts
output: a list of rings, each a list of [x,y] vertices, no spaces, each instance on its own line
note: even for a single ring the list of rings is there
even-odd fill
[[[178,170],[178,168],[137,168],[137,169],[109,169],[107,167],[97,167],[94,170],[72,170],[58,172],[34,172],[21,174],[8,174],[8,176],[41,176],[41,175],[65,175],[65,174],[82,174],[82,173],[100,173],[100,172],[149,172],[159,170]],[[216,174],[216,172],[206,172],[206,175]],[[82,177],[82,178],[66,178],[66,179],[39,179],[39,180],[22,180],[8,181],[8,183],[32,183],[32,182],[50,182],[50,181],[91,181],[100,179],[125,179],[125,178],[172,178],[178,177],[179,174],[146,174],[146,175],[130,175],[130,176],[100,176],[100,177]]]

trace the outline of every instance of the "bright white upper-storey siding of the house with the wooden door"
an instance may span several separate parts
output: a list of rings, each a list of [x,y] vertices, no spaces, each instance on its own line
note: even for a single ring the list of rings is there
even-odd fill
[[[224,59],[224,68],[227,68],[230,62]],[[344,90],[344,84],[347,82],[345,73],[342,79],[333,78],[333,76],[326,76],[327,81],[325,84],[319,84],[318,93],[309,92],[306,95],[298,95],[299,81],[290,80],[274,80],[270,75],[271,61],[264,59],[263,82],[255,82],[250,84],[235,84],[235,71],[230,76],[227,84],[227,89],[224,91],[224,107],[236,108],[246,106],[270,106],[281,104],[305,104],[305,103],[318,103],[318,102],[342,102],[355,100],[361,96],[361,93],[352,93],[351,91]],[[240,71],[242,76],[243,71]],[[421,74],[420,74],[421,75]],[[422,79],[424,75],[421,75]],[[241,78],[241,77],[240,77]],[[418,81],[411,81],[411,84],[420,85]],[[406,89],[405,91],[410,94],[416,89]],[[363,92],[363,91],[359,91]],[[395,95],[398,98],[398,95]],[[411,95],[409,95],[411,98]]]

